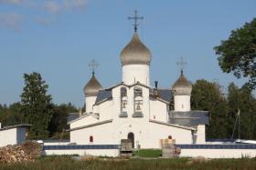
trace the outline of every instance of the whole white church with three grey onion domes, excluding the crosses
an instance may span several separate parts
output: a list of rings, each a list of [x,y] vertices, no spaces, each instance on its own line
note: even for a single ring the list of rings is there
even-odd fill
[[[150,85],[150,50],[136,32],[120,55],[122,82],[103,88],[94,71],[84,87],[85,113],[69,122],[70,143],[120,145],[131,139],[133,147],[159,148],[159,140],[176,144],[204,144],[207,111],[191,111],[192,85],[181,71],[172,87]]]

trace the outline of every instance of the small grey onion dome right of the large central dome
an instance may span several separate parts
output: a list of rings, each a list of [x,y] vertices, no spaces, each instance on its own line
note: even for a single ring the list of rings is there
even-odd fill
[[[191,95],[192,85],[187,81],[183,71],[172,87],[174,95]]]

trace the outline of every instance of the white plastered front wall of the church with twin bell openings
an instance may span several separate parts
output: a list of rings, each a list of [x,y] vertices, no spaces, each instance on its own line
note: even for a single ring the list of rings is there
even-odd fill
[[[192,144],[191,130],[178,128],[169,125],[160,125],[149,122],[152,113],[158,114],[156,120],[167,122],[166,104],[160,101],[150,102],[149,89],[142,85],[126,87],[127,89],[127,115],[120,117],[121,113],[121,87],[119,85],[112,89],[112,100],[97,105],[100,113],[100,122],[112,119],[111,123],[95,125],[70,132],[71,142],[79,145],[119,145],[121,139],[127,139],[129,133],[134,135],[134,145],[141,145],[142,148],[159,148],[159,140],[172,135],[178,144]],[[133,117],[134,113],[134,88],[140,87],[143,91],[143,117]],[[89,119],[85,117],[80,120],[80,125],[88,125]],[[90,122],[92,123],[92,122]],[[77,123],[78,125],[78,123]],[[93,136],[93,143],[89,137]]]

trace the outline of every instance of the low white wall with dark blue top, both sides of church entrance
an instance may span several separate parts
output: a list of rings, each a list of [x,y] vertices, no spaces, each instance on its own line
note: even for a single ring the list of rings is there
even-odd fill
[[[256,157],[256,145],[176,145],[180,157],[208,158]],[[119,156],[120,145],[44,145],[45,155],[101,155]]]

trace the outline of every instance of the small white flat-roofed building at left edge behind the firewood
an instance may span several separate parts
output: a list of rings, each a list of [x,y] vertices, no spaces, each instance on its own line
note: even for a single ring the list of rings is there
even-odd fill
[[[30,125],[11,125],[1,127],[0,147],[5,145],[21,145],[26,140],[27,127]]]

